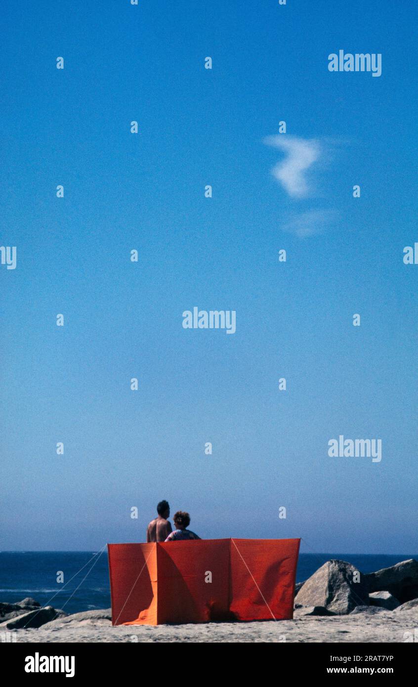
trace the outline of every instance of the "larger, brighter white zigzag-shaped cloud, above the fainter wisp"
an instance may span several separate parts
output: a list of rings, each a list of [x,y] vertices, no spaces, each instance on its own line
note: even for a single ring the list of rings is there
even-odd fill
[[[267,136],[264,143],[288,153],[286,159],[272,168],[273,176],[293,198],[305,198],[310,187],[305,179],[306,170],[321,155],[321,144],[317,139],[303,139],[288,134]]]

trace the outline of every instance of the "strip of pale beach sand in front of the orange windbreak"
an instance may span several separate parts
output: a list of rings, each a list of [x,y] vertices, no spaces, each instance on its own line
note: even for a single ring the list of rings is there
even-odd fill
[[[110,620],[71,622],[71,616],[40,629],[16,630],[17,642],[405,642],[418,632],[418,609],[401,613],[303,616],[264,622],[112,627]],[[410,636],[410,635],[407,635]]]

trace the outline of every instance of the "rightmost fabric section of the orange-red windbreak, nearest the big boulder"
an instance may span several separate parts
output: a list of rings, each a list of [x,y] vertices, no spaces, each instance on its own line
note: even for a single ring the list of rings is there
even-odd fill
[[[300,539],[231,539],[231,612],[237,620],[293,618]]]

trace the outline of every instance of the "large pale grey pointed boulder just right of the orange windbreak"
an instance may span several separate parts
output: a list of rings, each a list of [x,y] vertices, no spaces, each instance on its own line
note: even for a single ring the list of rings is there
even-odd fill
[[[327,561],[310,577],[294,601],[303,606],[323,606],[333,613],[350,613],[356,606],[369,605],[368,587],[360,576],[353,582],[356,568],[345,561]]]

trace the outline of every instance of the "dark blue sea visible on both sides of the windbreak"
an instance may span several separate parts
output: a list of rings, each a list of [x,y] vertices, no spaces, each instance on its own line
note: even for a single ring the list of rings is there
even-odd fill
[[[360,572],[374,572],[417,554],[299,554],[297,582],[310,577],[329,559],[353,563]],[[58,571],[64,583],[57,583]],[[72,579],[71,579],[72,578]],[[0,601],[14,603],[32,596],[41,606],[51,605],[66,613],[109,608],[107,552],[3,551],[0,552]]]

